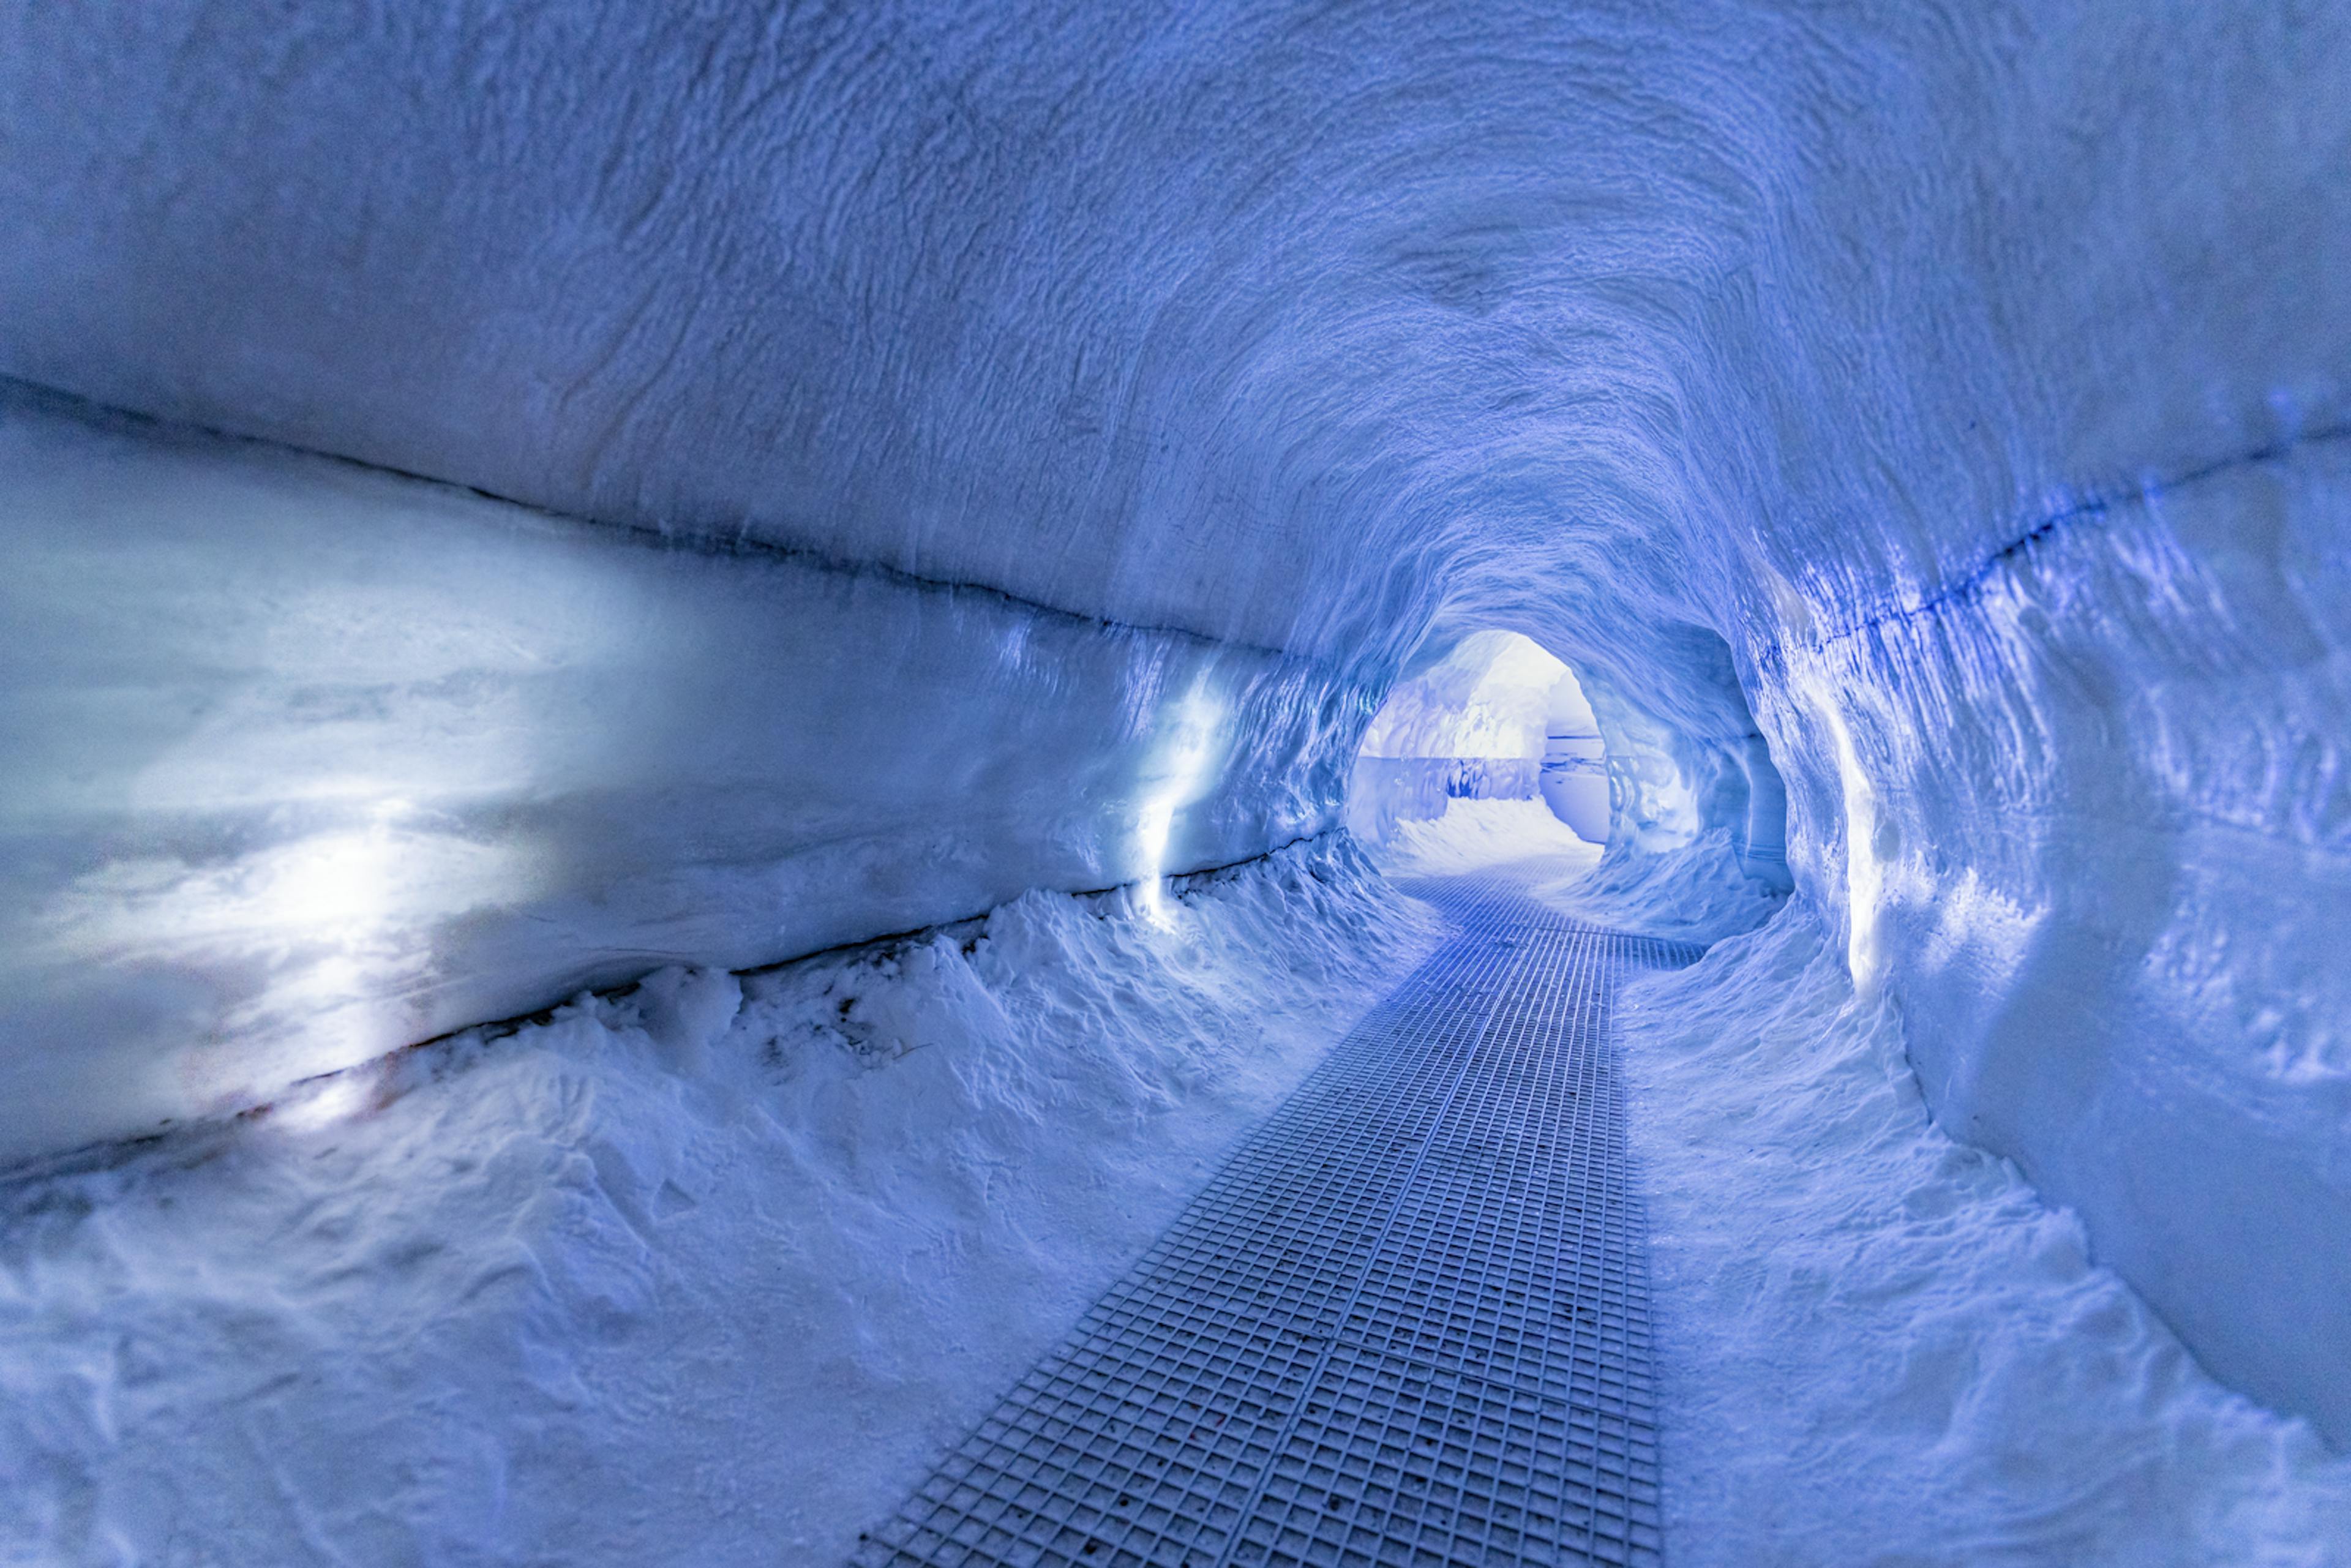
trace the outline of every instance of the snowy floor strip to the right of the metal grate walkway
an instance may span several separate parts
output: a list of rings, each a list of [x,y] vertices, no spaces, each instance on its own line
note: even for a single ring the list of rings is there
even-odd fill
[[[2351,1462],[1928,1121],[1810,907],[1617,1023],[1676,1568],[2351,1563]]]

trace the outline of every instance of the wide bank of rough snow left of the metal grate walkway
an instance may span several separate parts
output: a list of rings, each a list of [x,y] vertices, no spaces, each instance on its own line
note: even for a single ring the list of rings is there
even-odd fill
[[[825,1563],[1434,945],[1030,893],[0,1190],[0,1563]]]

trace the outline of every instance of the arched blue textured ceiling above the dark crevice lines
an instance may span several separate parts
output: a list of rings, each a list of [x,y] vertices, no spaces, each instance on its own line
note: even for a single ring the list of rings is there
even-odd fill
[[[9,24],[12,374],[1124,623],[1867,611],[2342,411],[2339,14],[92,21]]]

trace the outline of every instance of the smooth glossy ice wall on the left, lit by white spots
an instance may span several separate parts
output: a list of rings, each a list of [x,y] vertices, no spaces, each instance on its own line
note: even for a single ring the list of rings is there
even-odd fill
[[[0,395],[0,1161],[1317,827],[1333,679]]]

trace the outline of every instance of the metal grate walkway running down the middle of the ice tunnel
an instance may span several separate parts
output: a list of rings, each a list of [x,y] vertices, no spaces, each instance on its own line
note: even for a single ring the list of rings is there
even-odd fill
[[[1695,947],[1523,872],[1317,1067],[860,1568],[1660,1563],[1608,1006]]]

